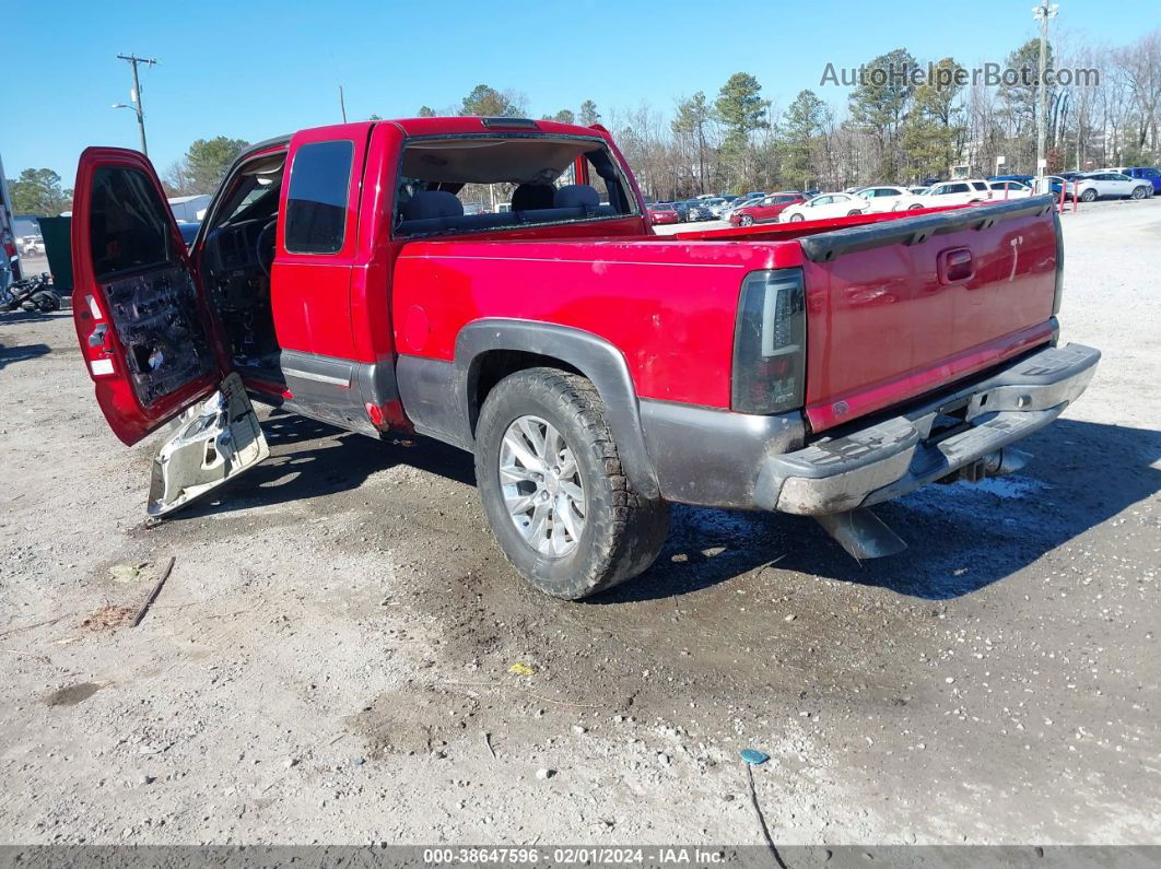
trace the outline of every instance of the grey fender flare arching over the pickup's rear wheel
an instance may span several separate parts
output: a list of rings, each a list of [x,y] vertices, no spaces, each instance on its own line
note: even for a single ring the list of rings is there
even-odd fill
[[[636,389],[625,356],[591,332],[550,323],[486,318],[469,323],[455,340],[453,378],[461,403],[464,441],[475,443],[478,407],[473,406],[481,361],[491,350],[519,350],[558,359],[592,381],[605,403],[608,428],[625,473],[646,498],[659,498],[657,472],[646,447]]]

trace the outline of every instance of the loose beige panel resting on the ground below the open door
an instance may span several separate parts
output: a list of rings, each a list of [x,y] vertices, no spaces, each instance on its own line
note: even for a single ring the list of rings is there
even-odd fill
[[[271,454],[241,378],[181,414],[176,433],[153,458],[146,513],[164,516],[212,492]]]

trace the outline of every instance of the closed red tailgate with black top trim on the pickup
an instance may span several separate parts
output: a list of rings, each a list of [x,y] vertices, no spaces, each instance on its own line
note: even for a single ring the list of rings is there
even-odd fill
[[[1050,341],[1058,239],[1048,196],[801,239],[814,430]]]

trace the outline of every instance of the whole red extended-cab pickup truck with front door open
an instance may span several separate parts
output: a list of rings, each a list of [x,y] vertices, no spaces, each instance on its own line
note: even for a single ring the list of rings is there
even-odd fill
[[[93,147],[72,231],[110,427],[135,443],[180,418],[151,515],[267,455],[253,398],[471,450],[500,549],[569,599],[648,567],[670,501],[813,515],[858,557],[896,551],[870,506],[1014,470],[1011,444],[1099,357],[1058,346],[1048,197],[664,238],[600,126],[272,139],[188,248],[150,162]]]

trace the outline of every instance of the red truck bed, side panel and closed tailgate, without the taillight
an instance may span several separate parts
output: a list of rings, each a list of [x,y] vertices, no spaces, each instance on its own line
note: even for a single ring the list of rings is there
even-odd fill
[[[416,241],[394,323],[401,354],[439,360],[479,318],[582,328],[632,348],[641,398],[728,408],[742,278],[801,268],[819,432],[1051,341],[1058,238],[1038,197],[673,237]]]

